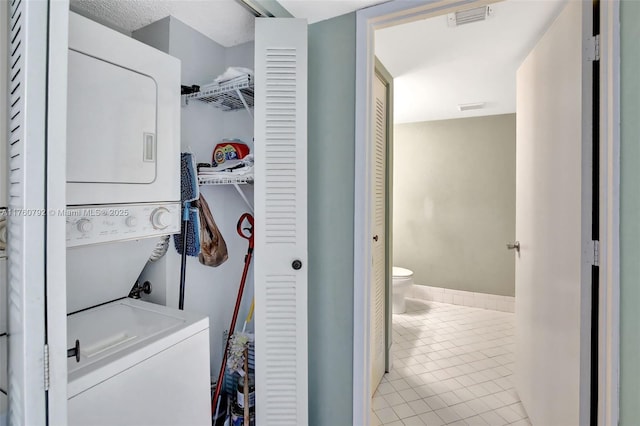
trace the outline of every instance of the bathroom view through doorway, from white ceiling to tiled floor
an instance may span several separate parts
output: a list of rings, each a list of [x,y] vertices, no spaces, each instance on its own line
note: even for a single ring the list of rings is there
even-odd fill
[[[376,57],[395,77],[394,367],[373,396],[371,424],[528,424],[513,384],[506,247],[515,241],[516,69],[560,6],[501,2],[466,12],[470,22],[452,13],[376,31]]]

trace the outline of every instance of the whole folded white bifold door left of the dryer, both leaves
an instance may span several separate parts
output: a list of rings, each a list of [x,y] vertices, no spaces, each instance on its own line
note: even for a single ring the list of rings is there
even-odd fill
[[[69,4],[8,7],[9,424],[66,423],[64,152]],[[51,213],[53,211],[53,213]]]

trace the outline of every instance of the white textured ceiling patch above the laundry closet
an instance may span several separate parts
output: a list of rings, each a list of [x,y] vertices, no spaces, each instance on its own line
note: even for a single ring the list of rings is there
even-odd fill
[[[223,46],[253,40],[254,17],[235,0],[71,0],[71,8],[129,33],[172,15]]]

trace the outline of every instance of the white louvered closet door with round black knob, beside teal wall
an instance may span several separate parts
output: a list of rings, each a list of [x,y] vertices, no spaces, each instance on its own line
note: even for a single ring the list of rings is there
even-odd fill
[[[308,423],[307,23],[255,34],[256,424]]]

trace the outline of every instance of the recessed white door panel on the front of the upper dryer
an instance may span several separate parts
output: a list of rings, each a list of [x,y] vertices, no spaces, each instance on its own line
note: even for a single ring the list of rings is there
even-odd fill
[[[153,78],[73,50],[68,75],[67,182],[152,183]]]

